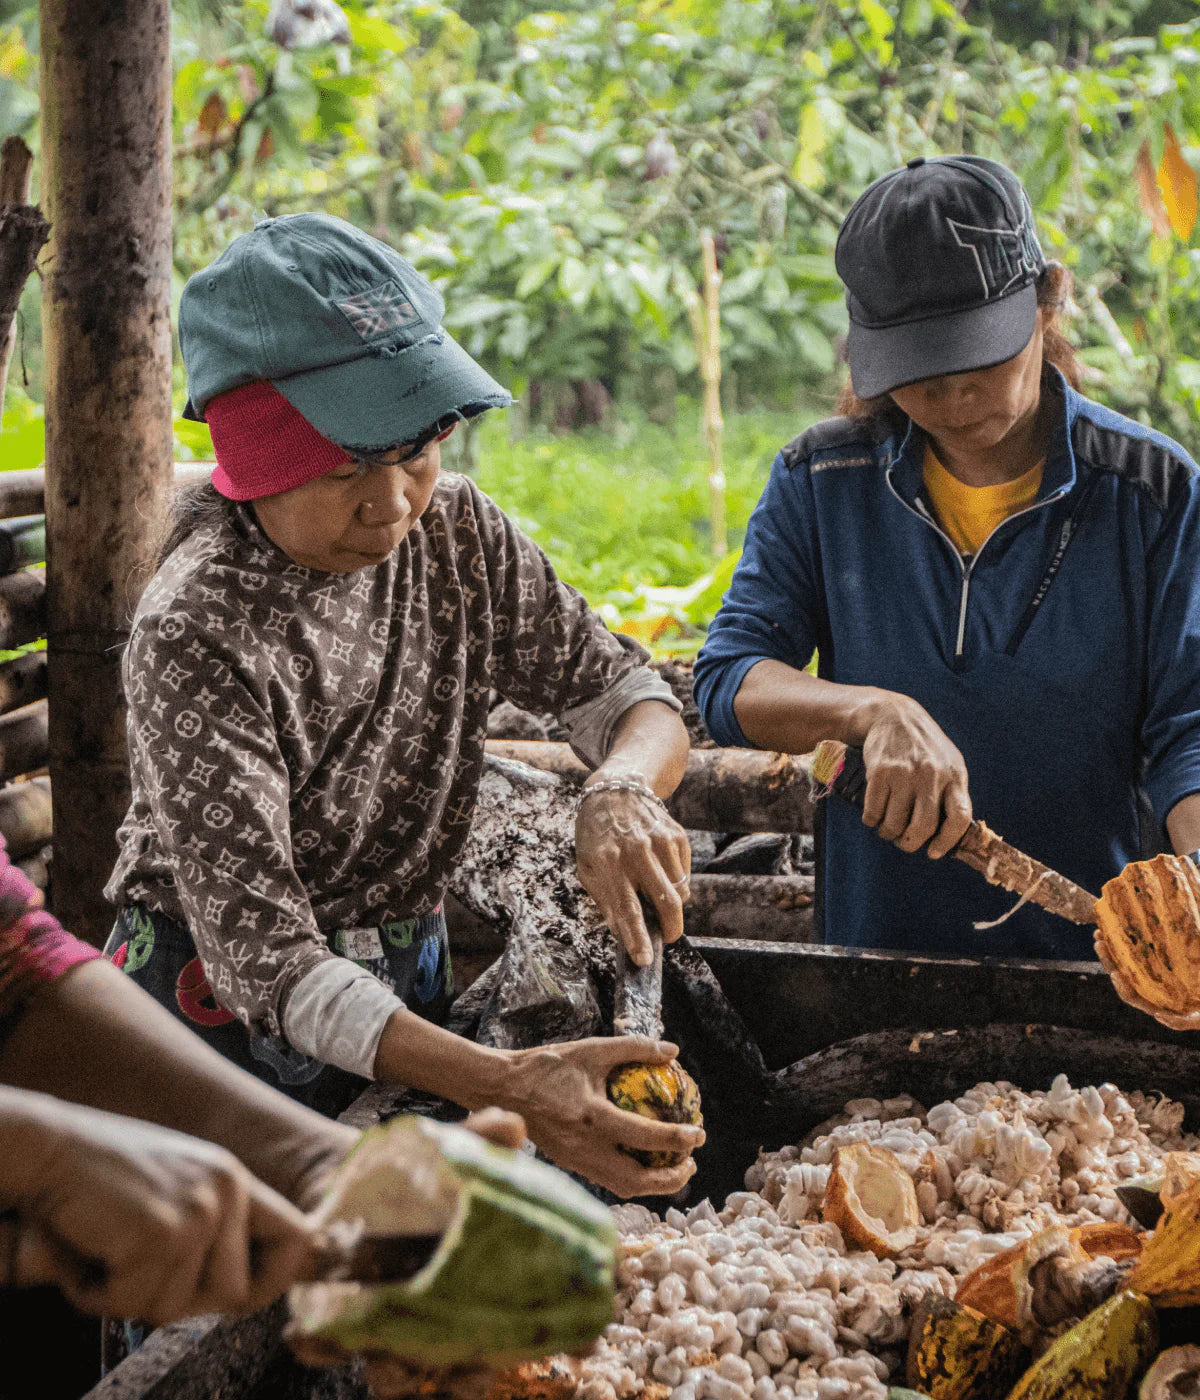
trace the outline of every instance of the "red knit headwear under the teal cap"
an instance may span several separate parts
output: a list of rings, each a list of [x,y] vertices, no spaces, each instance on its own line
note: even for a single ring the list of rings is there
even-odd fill
[[[213,486],[231,501],[279,496],[350,459],[265,379],[209,399],[204,419],[217,454]]]

